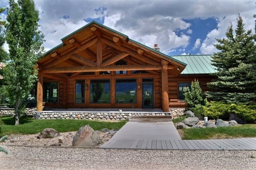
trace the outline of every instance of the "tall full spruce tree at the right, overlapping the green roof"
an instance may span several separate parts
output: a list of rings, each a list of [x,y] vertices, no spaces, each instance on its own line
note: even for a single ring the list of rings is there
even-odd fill
[[[235,33],[235,34],[234,34]],[[236,30],[228,27],[226,38],[217,39],[212,65],[217,79],[208,83],[208,98],[229,103],[254,101],[256,98],[256,35],[244,29],[239,15]]]

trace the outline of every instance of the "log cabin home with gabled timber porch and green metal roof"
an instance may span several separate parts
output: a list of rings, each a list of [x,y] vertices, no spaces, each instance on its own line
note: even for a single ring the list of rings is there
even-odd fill
[[[185,107],[183,90],[202,90],[210,55],[168,56],[95,21],[61,39],[37,62],[37,111],[50,108]]]

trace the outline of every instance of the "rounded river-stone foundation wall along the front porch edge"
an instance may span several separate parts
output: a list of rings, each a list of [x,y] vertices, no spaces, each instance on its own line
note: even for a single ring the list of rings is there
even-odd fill
[[[129,113],[129,112],[53,112],[53,111],[35,111],[35,119],[84,119],[84,120],[127,120],[134,116],[169,116],[170,113],[152,112],[152,113]]]

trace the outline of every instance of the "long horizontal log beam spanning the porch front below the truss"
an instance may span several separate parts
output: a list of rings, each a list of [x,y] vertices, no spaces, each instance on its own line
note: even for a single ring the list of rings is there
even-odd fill
[[[106,72],[106,71],[131,71],[131,70],[162,70],[162,65],[108,65],[105,67],[52,67],[42,70],[43,73],[58,73],[58,72]]]

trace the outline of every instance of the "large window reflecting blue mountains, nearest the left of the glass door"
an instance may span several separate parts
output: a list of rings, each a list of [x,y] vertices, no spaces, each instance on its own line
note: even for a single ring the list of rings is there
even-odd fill
[[[136,79],[117,79],[115,82],[115,103],[137,103]]]

